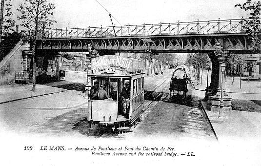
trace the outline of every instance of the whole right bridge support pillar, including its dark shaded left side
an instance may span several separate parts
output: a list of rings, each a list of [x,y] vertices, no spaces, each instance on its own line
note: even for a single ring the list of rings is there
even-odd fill
[[[224,74],[221,70],[221,66],[225,65],[225,58],[227,57],[227,54],[227,51],[222,50],[221,44],[217,43],[215,55],[210,56],[212,63],[214,62],[212,65],[211,74],[212,84],[210,84],[206,95],[209,95],[208,99],[211,101],[211,111],[218,112],[221,110],[221,108],[223,111],[232,110],[232,98],[226,93]]]

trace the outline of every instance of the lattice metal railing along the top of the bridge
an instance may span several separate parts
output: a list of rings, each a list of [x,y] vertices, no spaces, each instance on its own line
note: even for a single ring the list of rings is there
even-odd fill
[[[214,34],[244,32],[244,20],[193,21],[176,23],[114,26],[116,36],[153,36],[179,34]],[[113,37],[113,26],[70,29],[47,29],[38,38]]]

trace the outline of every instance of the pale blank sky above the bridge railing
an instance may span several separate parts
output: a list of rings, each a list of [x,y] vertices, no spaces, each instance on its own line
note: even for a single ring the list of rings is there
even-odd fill
[[[51,28],[111,26],[108,12],[96,0],[51,0],[56,3]],[[116,25],[207,21],[248,17],[237,3],[246,0],[98,0]],[[13,10],[22,0],[14,0]],[[15,11],[15,15],[17,12]],[[14,16],[15,17],[15,16]],[[19,24],[19,21],[17,22]]]

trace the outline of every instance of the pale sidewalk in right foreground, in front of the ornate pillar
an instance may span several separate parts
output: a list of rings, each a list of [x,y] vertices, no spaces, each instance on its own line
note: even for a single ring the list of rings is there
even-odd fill
[[[201,104],[220,142],[260,140],[261,113],[232,110],[217,117],[218,112],[209,111],[207,102],[201,101]]]

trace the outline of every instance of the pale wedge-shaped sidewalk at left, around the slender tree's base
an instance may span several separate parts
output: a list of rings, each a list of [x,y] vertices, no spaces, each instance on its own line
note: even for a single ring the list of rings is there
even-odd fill
[[[66,89],[36,84],[36,91],[32,91],[32,84],[11,84],[0,86],[0,104],[63,92]]]

